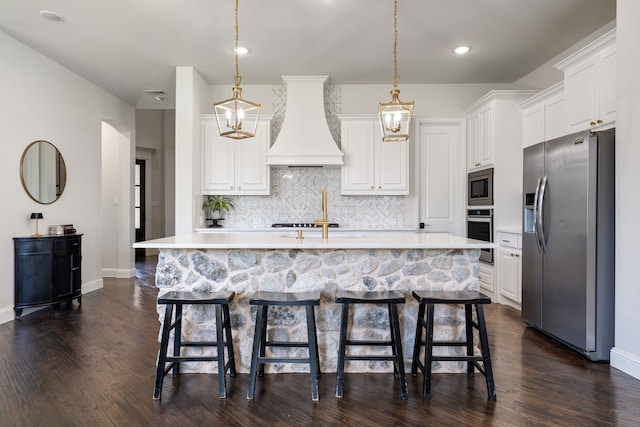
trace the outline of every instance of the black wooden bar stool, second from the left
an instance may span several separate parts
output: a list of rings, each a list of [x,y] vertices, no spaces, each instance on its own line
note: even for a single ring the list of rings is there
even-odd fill
[[[320,378],[320,355],[314,306],[320,305],[320,292],[256,292],[249,298],[250,305],[258,306],[256,330],[253,335],[253,353],[249,373],[247,399],[253,399],[256,375],[264,375],[265,363],[308,363],[311,375],[311,398],[318,400],[318,378]],[[304,306],[307,317],[307,341],[269,341],[267,338],[267,315],[269,306]],[[265,355],[267,347],[307,348],[309,357],[275,357]]]

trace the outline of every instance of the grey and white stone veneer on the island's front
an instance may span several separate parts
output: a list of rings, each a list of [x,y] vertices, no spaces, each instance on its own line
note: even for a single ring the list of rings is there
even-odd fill
[[[480,250],[470,249],[292,249],[292,250],[191,250],[161,249],[156,270],[159,295],[169,290],[209,292],[229,289],[236,292],[231,304],[232,329],[238,372],[249,372],[255,307],[249,296],[255,291],[296,292],[321,290],[316,322],[322,371],[335,372],[340,329],[340,308],[334,302],[337,289],[396,290],[406,296],[399,306],[405,365],[410,366],[415,337],[417,303],[411,290],[478,289]],[[349,321],[352,339],[389,339],[386,306],[354,305]],[[215,336],[212,306],[185,307],[183,333],[186,340]],[[164,306],[158,306],[160,324]],[[269,309],[269,336],[278,340],[306,341],[306,320],[302,308]],[[462,340],[464,308],[436,306],[434,336],[440,340]],[[292,338],[293,337],[293,338]],[[171,349],[169,349],[171,352]],[[202,353],[202,349],[183,352]],[[267,352],[270,350],[267,349]],[[305,349],[274,349],[279,354],[306,354]],[[461,348],[436,351],[462,352]],[[351,354],[389,354],[380,348],[351,348]],[[269,353],[267,353],[269,354]],[[300,364],[267,364],[266,372],[304,372]],[[347,372],[390,372],[391,362],[349,361]],[[463,372],[462,362],[434,363],[434,371]],[[184,372],[216,373],[215,363],[190,362]]]

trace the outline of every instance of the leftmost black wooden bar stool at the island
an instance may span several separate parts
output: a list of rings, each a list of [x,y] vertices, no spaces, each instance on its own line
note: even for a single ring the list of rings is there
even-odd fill
[[[173,369],[173,376],[180,372],[180,362],[218,362],[218,396],[227,397],[225,375],[236,376],[236,364],[233,354],[233,338],[231,336],[231,320],[229,316],[229,303],[235,297],[235,292],[179,292],[170,291],[158,298],[158,304],[166,305],[164,322],[162,325],[162,338],[160,340],[160,355],[158,356],[158,368],[156,371],[156,383],[153,392],[154,399],[160,399],[164,376]],[[207,304],[215,306],[216,312],[216,340],[215,341],[182,341],[182,306]],[[175,307],[175,320],[172,323]],[[173,338],[173,356],[167,356],[169,346],[169,333],[175,329]],[[226,335],[226,340],[225,336]],[[215,356],[181,356],[183,347],[216,347]],[[227,348],[225,362],[224,349]],[[167,365],[168,363],[168,365]]]

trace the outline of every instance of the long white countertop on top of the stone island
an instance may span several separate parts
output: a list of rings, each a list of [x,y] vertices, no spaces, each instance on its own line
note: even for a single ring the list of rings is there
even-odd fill
[[[298,240],[295,231],[280,233],[193,233],[134,243],[134,248],[157,249],[482,249],[495,243],[446,233],[332,233],[323,241],[316,231]]]

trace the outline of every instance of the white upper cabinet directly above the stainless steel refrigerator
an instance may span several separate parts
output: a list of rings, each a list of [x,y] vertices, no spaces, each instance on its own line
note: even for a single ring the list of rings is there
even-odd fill
[[[555,65],[564,72],[569,133],[615,122],[615,41],[614,29]]]

